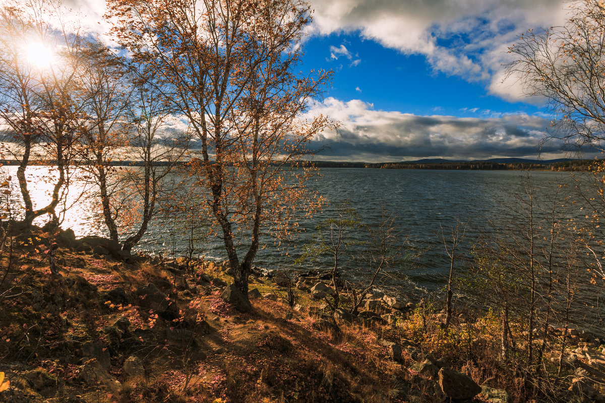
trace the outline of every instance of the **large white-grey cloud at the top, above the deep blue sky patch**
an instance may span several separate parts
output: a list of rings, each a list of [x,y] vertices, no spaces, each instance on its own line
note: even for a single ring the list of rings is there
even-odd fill
[[[488,91],[518,100],[504,85],[508,46],[529,28],[564,22],[562,0],[313,0],[312,33],[359,31],[405,54],[423,54],[434,71],[485,82]]]

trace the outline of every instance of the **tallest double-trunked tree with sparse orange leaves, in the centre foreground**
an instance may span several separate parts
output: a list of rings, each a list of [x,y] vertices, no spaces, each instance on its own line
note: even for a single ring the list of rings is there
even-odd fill
[[[199,142],[194,161],[206,208],[223,240],[234,283],[247,277],[261,230],[287,236],[299,207],[318,198],[312,171],[287,169],[328,126],[302,119],[329,74],[296,74],[310,8],[300,0],[110,2],[113,33],[136,63],[159,73],[166,99]]]

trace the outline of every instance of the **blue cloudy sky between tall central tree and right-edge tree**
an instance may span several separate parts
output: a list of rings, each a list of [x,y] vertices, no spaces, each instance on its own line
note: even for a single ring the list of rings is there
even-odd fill
[[[101,0],[81,1],[93,16]],[[562,25],[555,0],[312,0],[302,71],[332,69],[310,114],[338,120],[312,146],[318,160],[561,158],[538,150],[544,100],[505,80],[508,47],[530,28]]]

